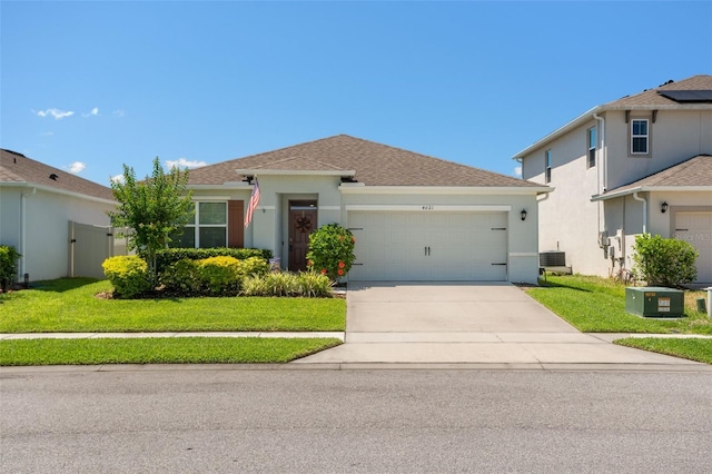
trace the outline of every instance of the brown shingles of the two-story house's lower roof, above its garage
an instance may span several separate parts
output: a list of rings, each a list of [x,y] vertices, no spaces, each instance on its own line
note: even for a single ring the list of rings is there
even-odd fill
[[[605,192],[625,194],[626,190],[651,187],[701,187],[709,186],[712,191],[712,156],[698,155],[686,161],[665,168],[654,175],[646,176],[629,185],[620,186]],[[681,189],[682,190],[682,189]]]

